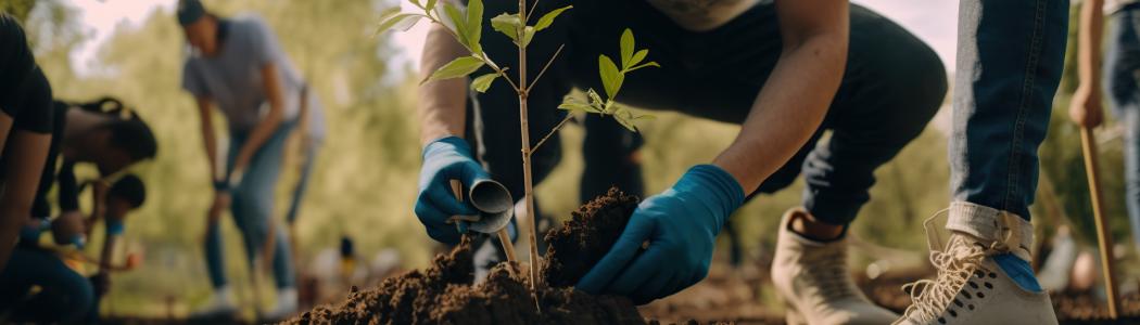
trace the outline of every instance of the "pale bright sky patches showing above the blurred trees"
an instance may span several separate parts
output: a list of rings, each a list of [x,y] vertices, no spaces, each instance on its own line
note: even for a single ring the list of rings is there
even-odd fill
[[[114,33],[115,28],[136,28],[154,10],[170,13],[177,0],[66,0],[80,8],[80,24],[89,40],[78,51],[72,53],[72,63],[79,74],[100,72],[95,60],[101,44]],[[401,1],[405,10],[412,7]],[[879,14],[903,25],[938,52],[947,69],[954,68],[954,43],[956,42],[958,0],[857,0],[854,3],[866,6]],[[173,19],[173,17],[171,17]],[[407,32],[397,33],[392,41],[401,53],[393,64],[418,66],[420,53],[423,50],[423,38],[429,24],[417,24]]]

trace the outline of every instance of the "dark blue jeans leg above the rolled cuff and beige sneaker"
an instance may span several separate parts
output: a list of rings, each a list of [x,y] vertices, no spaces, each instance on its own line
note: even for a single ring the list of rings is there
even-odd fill
[[[1068,0],[962,0],[951,192],[1029,219],[1068,36]]]

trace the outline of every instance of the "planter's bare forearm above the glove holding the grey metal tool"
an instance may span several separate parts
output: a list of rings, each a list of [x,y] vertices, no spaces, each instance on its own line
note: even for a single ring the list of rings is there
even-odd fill
[[[422,78],[430,76],[447,63],[464,56],[465,49],[443,26],[432,25],[424,42],[420,64]],[[446,136],[463,138],[466,123],[467,78],[431,81],[420,86],[420,141],[429,142]]]

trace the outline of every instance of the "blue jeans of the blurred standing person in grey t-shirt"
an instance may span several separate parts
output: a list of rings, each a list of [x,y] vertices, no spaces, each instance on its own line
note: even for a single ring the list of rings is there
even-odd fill
[[[296,122],[284,122],[274,132],[274,135],[258,149],[246,167],[242,177],[242,183],[230,190],[233,203],[230,213],[234,215],[234,223],[242,232],[245,243],[245,252],[250,266],[253,266],[254,257],[261,250],[269,234],[269,219],[272,217],[274,189],[277,186],[277,178],[280,175],[282,155],[285,151],[285,140]],[[227,170],[234,168],[234,160],[245,143],[249,134],[244,132],[230,132],[229,153],[227,158]],[[290,255],[288,234],[285,227],[276,224],[276,247],[272,260],[274,280],[278,289],[294,288],[295,275],[293,260]],[[206,230],[205,240],[206,267],[210,272],[210,281],[214,288],[227,284],[226,260],[222,256],[221,231],[218,223],[210,224]]]

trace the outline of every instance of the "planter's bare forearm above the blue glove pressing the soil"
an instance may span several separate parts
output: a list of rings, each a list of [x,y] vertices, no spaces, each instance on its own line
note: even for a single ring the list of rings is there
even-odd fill
[[[842,78],[847,35],[785,48],[733,143],[714,164],[746,193],[791,159],[815,133]]]

